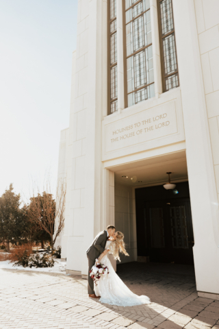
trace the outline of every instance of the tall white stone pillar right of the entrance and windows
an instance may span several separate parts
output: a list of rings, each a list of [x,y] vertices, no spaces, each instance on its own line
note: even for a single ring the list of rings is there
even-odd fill
[[[194,229],[196,288],[198,295],[219,298],[218,199],[194,1],[172,2]]]

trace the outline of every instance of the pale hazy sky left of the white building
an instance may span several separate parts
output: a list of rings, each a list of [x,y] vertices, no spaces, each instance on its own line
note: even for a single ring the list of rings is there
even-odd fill
[[[76,29],[77,0],[0,0],[0,195],[57,180]]]

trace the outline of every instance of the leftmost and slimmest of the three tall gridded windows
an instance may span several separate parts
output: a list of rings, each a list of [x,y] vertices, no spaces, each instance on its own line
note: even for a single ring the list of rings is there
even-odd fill
[[[112,114],[117,111],[118,104],[118,86],[117,86],[117,24],[116,24],[116,0],[108,0],[108,49],[109,63],[108,63],[108,81],[109,81],[109,110]]]

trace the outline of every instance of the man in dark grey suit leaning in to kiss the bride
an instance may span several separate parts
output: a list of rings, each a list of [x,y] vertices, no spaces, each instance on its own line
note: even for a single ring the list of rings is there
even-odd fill
[[[88,257],[88,294],[91,298],[99,298],[99,296],[96,296],[94,293],[94,281],[90,278],[90,269],[95,264],[95,260],[100,256],[100,254],[107,254],[107,252],[109,252],[109,250],[105,249],[105,244],[107,242],[107,238],[109,236],[113,236],[114,233],[115,226],[107,226],[107,230],[99,232],[99,234],[96,235],[92,245],[90,245],[86,251]]]

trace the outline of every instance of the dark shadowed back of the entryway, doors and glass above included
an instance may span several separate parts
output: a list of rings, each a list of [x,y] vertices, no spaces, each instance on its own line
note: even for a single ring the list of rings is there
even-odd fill
[[[194,236],[188,182],[177,194],[163,186],[136,189],[138,256],[151,262],[192,265]]]

